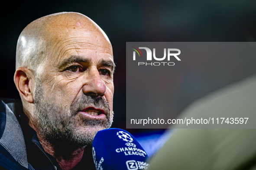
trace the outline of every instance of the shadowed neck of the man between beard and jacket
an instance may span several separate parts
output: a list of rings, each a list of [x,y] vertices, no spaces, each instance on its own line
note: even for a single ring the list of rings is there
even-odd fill
[[[52,146],[50,142],[42,138],[40,139],[40,137],[39,141],[45,151],[56,158],[62,170],[70,170],[75,167],[81,161],[84,154],[85,146],[81,148]]]

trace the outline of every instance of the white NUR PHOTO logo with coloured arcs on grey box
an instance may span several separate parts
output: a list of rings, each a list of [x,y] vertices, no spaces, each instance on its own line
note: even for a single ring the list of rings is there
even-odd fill
[[[133,46],[131,46],[133,47]],[[136,52],[137,54],[139,55],[139,57],[141,56],[142,57],[142,54],[141,54],[141,51],[139,49],[144,49],[146,50],[146,53],[147,53],[147,61],[150,61],[152,60],[152,51],[148,48],[148,47],[139,47],[139,48],[136,48],[136,47],[133,47],[131,48],[133,49],[133,60],[136,60]],[[177,51],[178,53],[171,53],[172,51]],[[181,50],[177,49],[177,48],[168,48],[167,49],[167,60],[170,61],[170,58],[171,57],[175,57],[178,61],[181,61],[181,59],[179,59],[178,55],[181,54]],[[157,61],[162,61],[162,60],[165,60],[166,58],[166,48],[164,48],[164,57],[162,58],[157,58],[156,57],[156,48],[153,48],[153,58]],[[145,63],[145,62],[138,62],[138,66],[140,65],[145,65],[145,66],[160,66],[160,65],[163,65],[163,66],[174,66],[175,63],[173,62],[151,62],[151,63]]]

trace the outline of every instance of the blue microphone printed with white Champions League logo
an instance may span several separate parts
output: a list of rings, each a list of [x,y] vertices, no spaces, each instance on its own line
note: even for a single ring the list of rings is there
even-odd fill
[[[92,142],[96,170],[146,170],[149,157],[139,142],[123,129],[97,132]]]

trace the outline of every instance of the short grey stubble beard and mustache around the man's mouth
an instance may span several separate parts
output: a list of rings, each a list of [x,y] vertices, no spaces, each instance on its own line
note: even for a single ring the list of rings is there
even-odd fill
[[[34,104],[37,133],[53,145],[91,145],[97,131],[110,128],[113,122],[113,113],[110,114],[109,104],[104,98],[83,94],[77,96],[70,107],[64,107],[56,98],[45,97],[39,79],[36,80]],[[78,113],[88,106],[104,110],[105,119],[92,120]]]

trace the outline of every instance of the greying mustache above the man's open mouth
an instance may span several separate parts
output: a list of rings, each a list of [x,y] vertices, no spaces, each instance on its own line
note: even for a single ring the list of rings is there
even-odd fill
[[[82,95],[75,98],[74,102],[71,104],[71,114],[75,116],[79,111],[88,107],[100,108],[104,110],[106,116],[110,115],[110,107],[107,100],[102,97],[93,98],[90,95]]]

